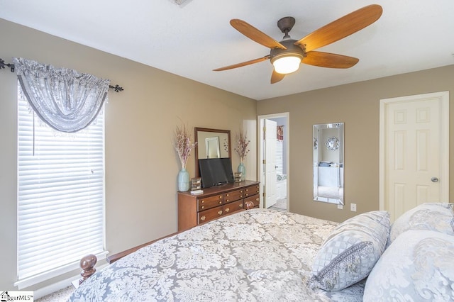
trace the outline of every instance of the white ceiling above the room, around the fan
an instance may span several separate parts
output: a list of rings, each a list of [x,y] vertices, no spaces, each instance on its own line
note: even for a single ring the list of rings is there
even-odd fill
[[[368,4],[383,7],[377,22],[319,49],[358,57],[350,69],[303,64],[277,84],[269,60],[212,71],[269,54],[232,18],[279,41],[277,21],[293,16],[299,40]],[[256,100],[454,64],[453,0],[0,0],[0,18]]]

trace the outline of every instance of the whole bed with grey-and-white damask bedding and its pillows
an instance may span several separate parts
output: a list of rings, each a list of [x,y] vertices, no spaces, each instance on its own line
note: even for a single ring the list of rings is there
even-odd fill
[[[96,272],[69,301],[454,301],[452,203],[334,223],[241,211]]]

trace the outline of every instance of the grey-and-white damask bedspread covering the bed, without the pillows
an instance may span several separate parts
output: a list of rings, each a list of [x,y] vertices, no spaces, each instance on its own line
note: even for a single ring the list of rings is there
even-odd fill
[[[200,225],[96,272],[70,301],[362,301],[306,286],[319,247],[337,223],[254,209]]]

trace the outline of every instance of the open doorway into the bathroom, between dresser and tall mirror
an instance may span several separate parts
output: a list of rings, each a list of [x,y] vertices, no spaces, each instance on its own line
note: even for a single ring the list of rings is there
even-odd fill
[[[289,113],[258,116],[258,121],[260,208],[289,211]]]

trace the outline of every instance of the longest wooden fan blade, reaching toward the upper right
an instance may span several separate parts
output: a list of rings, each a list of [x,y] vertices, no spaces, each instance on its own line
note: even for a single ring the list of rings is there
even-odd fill
[[[294,44],[304,45],[306,52],[315,50],[356,33],[366,26],[370,26],[382,16],[382,11],[382,6],[377,4],[365,6],[309,33],[309,35]]]

